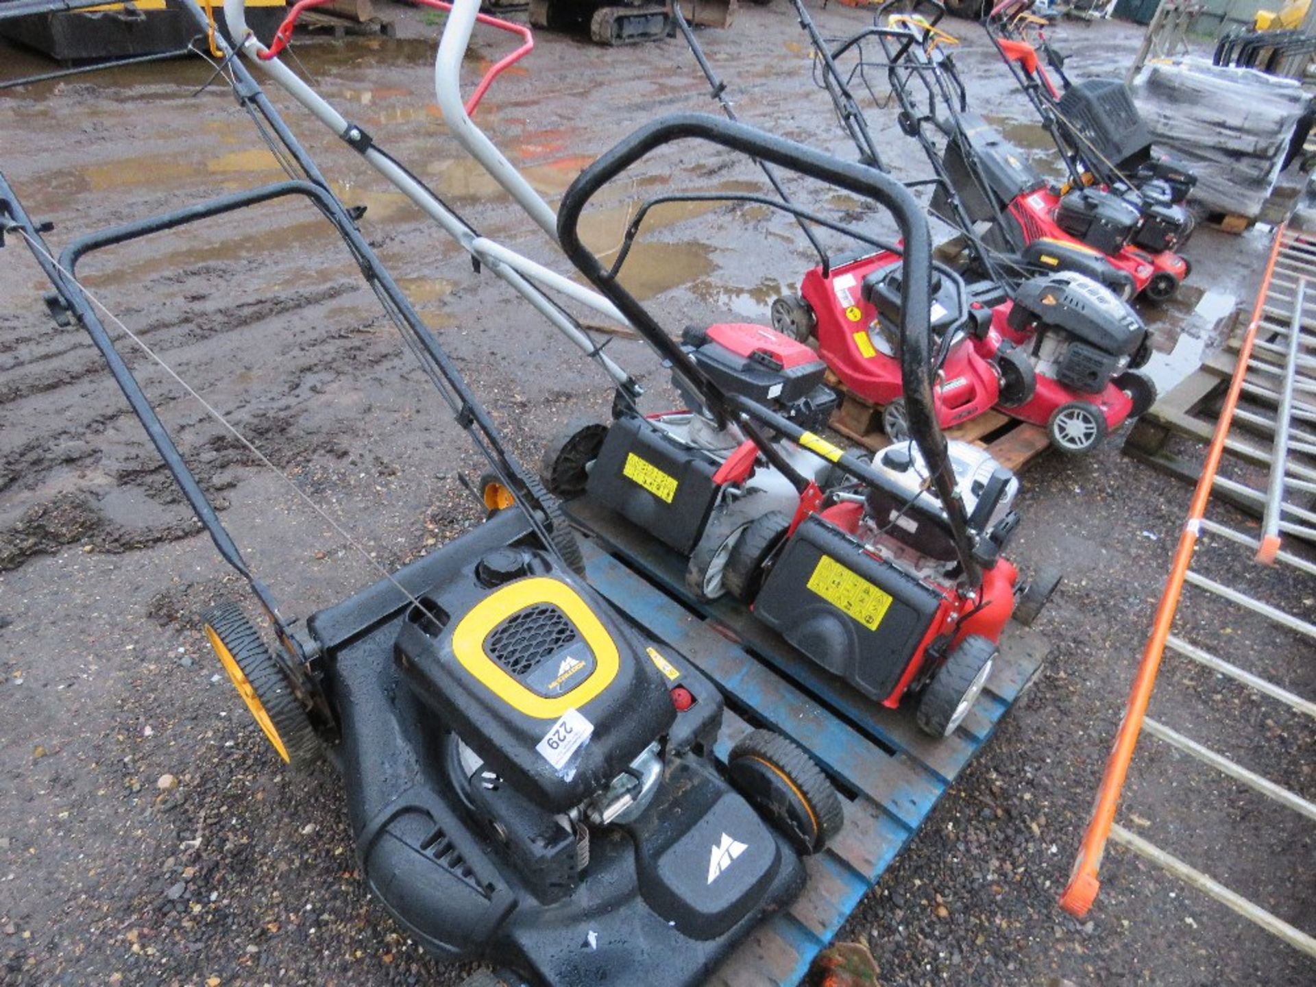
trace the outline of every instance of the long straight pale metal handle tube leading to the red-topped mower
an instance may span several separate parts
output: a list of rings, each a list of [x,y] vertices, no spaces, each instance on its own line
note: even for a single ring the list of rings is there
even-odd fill
[[[478,236],[465,220],[443,205],[433,192],[417,182],[397,162],[370,145],[368,141],[363,142],[363,132],[324,100],[320,93],[307,86],[283,62],[278,58],[268,61],[259,58],[261,53],[267,49],[247,28],[245,4],[246,0],[224,0],[224,20],[228,24],[229,34],[234,38],[243,55],[282,86],[297,103],[311,111],[320,122],[361,151],[361,155],[371,167],[411,199],[421,212],[442,226],[471,257],[486,265],[495,275],[521,295],[521,297],[529,301],[540,315],[547,318],[554,328],[575,343],[586,355],[597,359],[613,383],[630,393],[638,393],[640,388],[634,379],[616,361],[601,353],[595,341],[590,338],[579,324],[550,297],[544,295],[537,284],[532,282],[540,282],[622,325],[628,325],[625,317],[611,301],[597,292],[576,284],[571,279],[550,271],[521,254],[508,250],[500,243]]]

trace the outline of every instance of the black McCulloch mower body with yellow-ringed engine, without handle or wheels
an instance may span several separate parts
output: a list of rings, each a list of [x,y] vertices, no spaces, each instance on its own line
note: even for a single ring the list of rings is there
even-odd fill
[[[725,770],[711,759],[716,687],[624,624],[520,511],[396,584],[415,601],[399,609],[384,583],[311,624],[341,701],[362,873],[426,949],[536,983],[636,983],[661,962],[665,982],[694,984],[800,890],[821,822],[796,844],[770,799],[740,794],[736,750]],[[374,661],[390,641],[393,661]],[[834,833],[840,803],[825,803]]]

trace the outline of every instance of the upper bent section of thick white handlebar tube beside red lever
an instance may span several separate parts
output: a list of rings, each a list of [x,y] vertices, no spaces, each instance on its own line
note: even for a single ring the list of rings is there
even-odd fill
[[[475,126],[466,107],[462,104],[462,59],[471,43],[475,30],[475,16],[480,12],[480,0],[453,0],[453,11],[447,14],[443,34],[438,39],[438,54],[434,57],[434,95],[443,122],[457,142],[474,157],[484,170],[494,176],[508,193],[521,204],[540,229],[558,242],[558,217],[553,208],[540,197],[520,171],[503,157],[484,132]]]

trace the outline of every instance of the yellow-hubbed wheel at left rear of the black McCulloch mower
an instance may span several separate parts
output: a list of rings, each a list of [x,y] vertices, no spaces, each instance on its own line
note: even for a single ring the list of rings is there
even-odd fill
[[[220,665],[270,745],[293,767],[312,763],[320,754],[320,740],[261,632],[232,600],[211,608],[203,621]]]

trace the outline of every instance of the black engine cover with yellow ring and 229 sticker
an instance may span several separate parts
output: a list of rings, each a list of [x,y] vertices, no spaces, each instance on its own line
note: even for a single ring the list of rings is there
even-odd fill
[[[562,812],[604,788],[675,719],[666,679],[584,586],[553,571],[422,597],[404,676],[524,796]]]

